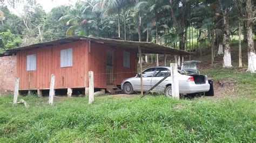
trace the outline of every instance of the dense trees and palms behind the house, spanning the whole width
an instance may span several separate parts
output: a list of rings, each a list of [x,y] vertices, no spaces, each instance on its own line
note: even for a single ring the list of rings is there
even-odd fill
[[[232,67],[230,42],[240,35],[247,43],[248,71],[255,71],[255,2],[251,0],[84,0],[49,13],[36,0],[4,0],[0,4],[1,51],[86,35],[151,41],[198,53],[210,46],[213,65],[215,49],[224,44],[224,52],[220,48],[218,54],[224,54],[223,67]],[[21,5],[22,10],[17,8]]]

